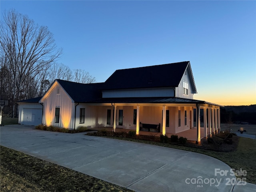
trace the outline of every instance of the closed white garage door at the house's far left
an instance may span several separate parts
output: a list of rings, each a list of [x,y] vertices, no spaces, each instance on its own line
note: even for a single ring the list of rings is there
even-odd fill
[[[21,124],[24,124],[24,125],[42,124],[42,109],[23,108]]]

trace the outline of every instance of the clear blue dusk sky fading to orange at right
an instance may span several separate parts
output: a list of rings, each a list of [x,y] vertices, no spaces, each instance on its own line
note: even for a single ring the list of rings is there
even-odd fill
[[[190,61],[198,94],[256,104],[256,1],[0,1],[54,34],[58,62],[104,82],[115,70]],[[161,76],[161,74],[159,74]]]

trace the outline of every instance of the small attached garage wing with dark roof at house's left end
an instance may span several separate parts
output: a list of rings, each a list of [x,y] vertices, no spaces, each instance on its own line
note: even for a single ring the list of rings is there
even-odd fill
[[[41,97],[40,97],[41,98]],[[40,98],[33,98],[19,101],[19,119],[18,123],[22,125],[42,124],[43,106],[38,103]]]

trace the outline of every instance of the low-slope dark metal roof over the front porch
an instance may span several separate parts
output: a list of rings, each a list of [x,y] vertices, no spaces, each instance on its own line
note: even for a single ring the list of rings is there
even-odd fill
[[[101,98],[87,103],[205,103],[205,101],[176,97]]]

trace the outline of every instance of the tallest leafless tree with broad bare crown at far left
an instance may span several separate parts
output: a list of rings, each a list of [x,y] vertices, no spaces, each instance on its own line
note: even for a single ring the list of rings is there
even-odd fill
[[[62,54],[53,34],[46,26],[38,26],[26,15],[15,10],[6,12],[0,27],[0,45],[7,57],[12,76],[12,100],[20,100],[21,88]],[[13,106],[14,116],[14,106]]]

